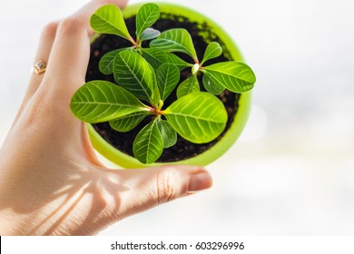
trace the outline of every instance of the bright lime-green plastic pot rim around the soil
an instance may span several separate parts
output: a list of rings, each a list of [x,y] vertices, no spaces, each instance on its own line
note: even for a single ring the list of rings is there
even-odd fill
[[[143,4],[129,5],[123,10],[124,18],[129,18],[136,15],[138,9]],[[183,15],[189,18],[191,22],[203,23],[206,22],[211,27],[213,33],[217,34],[221,41],[224,43],[224,47],[231,54],[231,58],[235,61],[243,62],[241,53],[232,41],[231,37],[226,34],[218,24],[215,24],[210,18],[195,12],[192,9],[186,8],[181,5],[162,4],[158,3],[162,13],[169,13],[172,15]],[[251,109],[251,92],[242,93],[239,100],[239,108],[235,115],[234,121],[231,123],[231,128],[224,134],[219,142],[214,144],[209,150],[202,152],[201,154],[183,161],[169,162],[169,163],[153,163],[145,165],[136,160],[132,156],[123,153],[122,151],[114,148],[110,143],[106,142],[98,132],[95,132],[93,126],[88,124],[88,131],[90,134],[91,142],[96,151],[101,153],[103,157],[112,161],[123,168],[143,168],[152,165],[162,164],[185,164],[185,165],[199,165],[205,166],[212,161],[217,160],[223,153],[229,150],[234,142],[239,138],[241,132],[247,122]]]

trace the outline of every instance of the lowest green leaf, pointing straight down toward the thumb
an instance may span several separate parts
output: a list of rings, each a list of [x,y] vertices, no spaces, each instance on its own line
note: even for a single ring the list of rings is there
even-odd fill
[[[133,142],[133,153],[139,161],[150,164],[160,158],[163,140],[157,122],[147,124]]]

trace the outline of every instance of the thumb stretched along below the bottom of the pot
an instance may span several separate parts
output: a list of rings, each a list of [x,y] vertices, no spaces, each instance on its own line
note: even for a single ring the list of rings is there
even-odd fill
[[[129,190],[120,196],[123,219],[154,206],[208,189],[210,174],[200,167],[163,166],[119,172],[121,181]]]

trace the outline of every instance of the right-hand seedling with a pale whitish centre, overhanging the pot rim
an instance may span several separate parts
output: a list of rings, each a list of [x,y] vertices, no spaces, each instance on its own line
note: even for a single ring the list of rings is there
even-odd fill
[[[247,64],[236,61],[222,62],[204,66],[205,62],[222,54],[221,45],[208,44],[202,62],[199,61],[192,44],[192,37],[185,29],[171,29],[163,32],[150,44],[168,52],[180,52],[192,57],[192,75],[182,82],[177,89],[177,97],[200,91],[197,75],[203,73],[202,83],[206,91],[220,94],[225,89],[233,93],[243,93],[253,88],[256,77]]]

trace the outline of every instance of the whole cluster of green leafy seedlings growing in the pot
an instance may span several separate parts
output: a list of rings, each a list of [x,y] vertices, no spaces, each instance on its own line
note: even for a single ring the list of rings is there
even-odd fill
[[[91,17],[99,34],[115,34],[132,43],[131,47],[104,54],[99,63],[103,74],[112,74],[116,83],[85,83],[72,98],[71,110],[84,122],[109,122],[118,132],[130,132],[150,116],[133,142],[133,154],[143,163],[157,161],[164,148],[177,142],[177,133],[194,143],[211,142],[225,129],[227,112],[213,94],[224,89],[234,93],[251,90],[254,73],[246,64],[225,62],[204,66],[222,54],[220,44],[208,45],[202,62],[195,52],[192,37],[184,29],[160,33],[151,26],[159,19],[160,8],[143,5],[136,15],[135,38],[128,32],[121,10],[104,5]],[[143,48],[143,41],[152,40]],[[174,53],[188,54],[193,64]],[[180,72],[190,67],[191,77],[180,83]],[[200,92],[197,75],[207,92]],[[177,88],[177,97],[167,108],[163,103]]]

